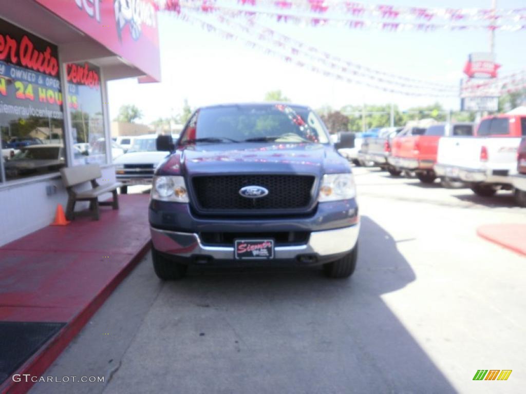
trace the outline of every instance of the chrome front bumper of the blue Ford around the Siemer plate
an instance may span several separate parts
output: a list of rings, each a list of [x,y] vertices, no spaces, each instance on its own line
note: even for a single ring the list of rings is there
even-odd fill
[[[234,246],[204,245],[196,233],[179,233],[150,227],[151,241],[157,251],[181,256],[210,256],[217,260],[233,260]],[[330,256],[350,252],[358,241],[360,223],[343,229],[313,231],[308,243],[294,246],[275,246],[276,260],[295,260],[299,255]],[[248,236],[247,236],[248,238]]]

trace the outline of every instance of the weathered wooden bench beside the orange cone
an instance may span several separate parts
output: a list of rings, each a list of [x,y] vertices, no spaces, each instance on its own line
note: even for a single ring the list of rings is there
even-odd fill
[[[117,188],[123,184],[120,182],[99,185],[97,179],[102,177],[98,164],[77,165],[75,167],[63,167],[60,169],[62,182],[66,186],[68,201],[66,217],[73,220],[77,216],[91,215],[94,220],[99,220],[99,205],[111,205],[113,209],[119,209]],[[75,191],[73,187],[84,182],[90,182],[92,188],[89,190]],[[113,201],[99,202],[98,196],[104,193],[113,193]],[[89,201],[88,212],[75,212],[77,201]]]

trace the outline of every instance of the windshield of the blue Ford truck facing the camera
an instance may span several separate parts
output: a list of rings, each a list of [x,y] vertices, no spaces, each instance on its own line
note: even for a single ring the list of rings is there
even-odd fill
[[[310,109],[266,104],[200,109],[179,141],[218,142],[328,143],[329,138],[323,123]]]

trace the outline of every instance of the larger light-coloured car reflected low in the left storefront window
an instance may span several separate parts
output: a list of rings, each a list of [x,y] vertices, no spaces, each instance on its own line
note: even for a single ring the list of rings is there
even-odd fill
[[[4,168],[7,178],[19,178],[58,171],[65,162],[62,145],[42,144],[21,148]]]

